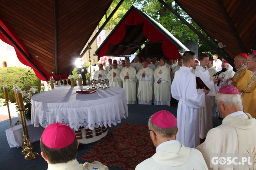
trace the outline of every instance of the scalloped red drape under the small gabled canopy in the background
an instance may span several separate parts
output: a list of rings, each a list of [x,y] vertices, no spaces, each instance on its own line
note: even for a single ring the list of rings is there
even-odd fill
[[[146,18],[144,18],[134,9],[130,11],[130,13],[123,19],[123,21],[118,25],[110,37],[108,37],[102,47],[100,47],[98,58],[106,54],[109,48],[109,44],[118,44],[124,39],[126,33],[126,25],[132,26],[142,23],[144,23],[143,33],[148,40],[154,42],[162,41],[162,50],[167,58],[174,60],[180,58],[178,48],[165,35],[158,31],[155,26],[147,21]]]

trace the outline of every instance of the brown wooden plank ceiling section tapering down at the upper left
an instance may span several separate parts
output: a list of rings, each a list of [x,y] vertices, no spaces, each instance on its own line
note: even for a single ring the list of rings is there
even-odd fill
[[[113,0],[1,0],[0,15],[48,74],[74,69]]]

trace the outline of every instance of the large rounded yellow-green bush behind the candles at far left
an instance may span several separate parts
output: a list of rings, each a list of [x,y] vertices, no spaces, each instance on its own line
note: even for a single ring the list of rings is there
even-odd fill
[[[15,102],[15,97],[13,93],[13,85],[17,84],[17,86],[21,90],[25,89],[26,83],[26,72],[28,69],[22,67],[4,67],[0,68],[0,98],[4,98],[3,96],[3,84],[8,86],[8,96],[11,102]],[[40,91],[41,81],[37,78],[34,71],[30,70],[27,78],[27,90],[31,88],[31,86],[37,86],[38,91]]]

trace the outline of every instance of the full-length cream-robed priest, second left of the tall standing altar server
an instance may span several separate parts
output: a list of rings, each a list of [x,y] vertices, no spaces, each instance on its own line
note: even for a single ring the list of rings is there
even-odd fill
[[[142,65],[143,68],[136,74],[139,81],[138,104],[152,104],[154,71],[148,67],[147,61],[143,61]]]

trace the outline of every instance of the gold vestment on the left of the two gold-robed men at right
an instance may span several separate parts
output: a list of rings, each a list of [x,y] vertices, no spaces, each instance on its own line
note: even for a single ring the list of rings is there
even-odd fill
[[[251,74],[252,71],[247,70],[247,65],[243,65],[234,74],[231,86],[236,87],[238,90],[244,90],[251,79]]]

